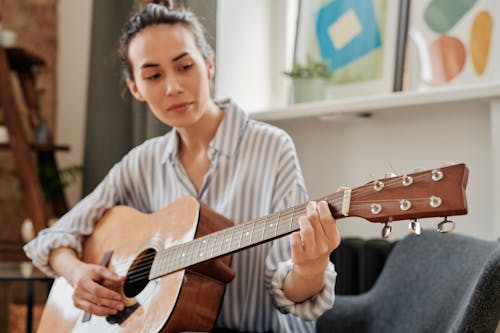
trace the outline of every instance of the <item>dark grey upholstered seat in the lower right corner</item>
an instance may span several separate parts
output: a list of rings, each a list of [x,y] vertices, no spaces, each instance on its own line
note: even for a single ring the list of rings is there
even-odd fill
[[[397,242],[368,291],[338,295],[323,332],[495,332],[500,243],[424,231]]]

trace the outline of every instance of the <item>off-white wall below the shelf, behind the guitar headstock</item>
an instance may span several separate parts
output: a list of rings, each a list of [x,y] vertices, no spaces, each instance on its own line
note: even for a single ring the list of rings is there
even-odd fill
[[[493,222],[491,134],[485,103],[440,104],[402,112],[379,112],[370,119],[346,118],[321,122],[317,118],[277,121],[293,137],[311,198],[341,186],[359,186],[398,174],[464,162],[470,169],[467,187],[469,213],[453,217],[456,232],[495,239]],[[496,175],[496,174],[495,174]],[[372,178],[373,177],[373,178]],[[435,228],[439,219],[420,221]],[[407,234],[407,222],[393,223],[393,238]],[[339,221],[344,237],[380,237],[382,225],[359,218]]]

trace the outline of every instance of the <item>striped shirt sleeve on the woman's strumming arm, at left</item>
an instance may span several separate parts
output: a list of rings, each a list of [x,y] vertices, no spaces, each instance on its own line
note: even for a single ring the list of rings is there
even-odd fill
[[[104,212],[119,203],[116,181],[122,173],[121,163],[117,163],[95,190],[62,216],[52,227],[42,230],[35,239],[24,246],[26,255],[42,272],[54,276],[49,266],[49,256],[53,249],[68,247],[82,255],[82,242],[90,235],[95,223]]]

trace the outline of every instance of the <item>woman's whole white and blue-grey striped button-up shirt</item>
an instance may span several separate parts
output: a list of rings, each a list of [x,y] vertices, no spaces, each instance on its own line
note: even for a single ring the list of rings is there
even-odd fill
[[[96,189],[25,246],[34,264],[48,274],[51,249],[72,247],[112,206],[155,212],[186,195],[195,196],[235,224],[308,200],[294,144],[276,127],[249,119],[234,103],[218,103],[225,116],[209,145],[210,168],[199,193],[178,157],[175,129],[132,149]],[[227,285],[217,326],[253,332],[314,332],[319,315],[333,305],[336,273],[330,263],[323,291],[302,303],[283,293],[291,269],[288,237],[233,254],[236,278]]]

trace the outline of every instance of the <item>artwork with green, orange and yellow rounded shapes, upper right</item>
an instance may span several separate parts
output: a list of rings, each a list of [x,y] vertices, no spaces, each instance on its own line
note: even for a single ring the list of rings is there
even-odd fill
[[[412,1],[404,90],[498,82],[498,0]]]

